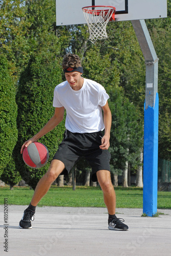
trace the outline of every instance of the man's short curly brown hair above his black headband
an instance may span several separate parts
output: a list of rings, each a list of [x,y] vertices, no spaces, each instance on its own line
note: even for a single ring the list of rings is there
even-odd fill
[[[62,61],[63,69],[78,68],[78,67],[82,67],[82,66],[81,66],[80,57],[77,54],[68,53],[63,57],[63,61]]]

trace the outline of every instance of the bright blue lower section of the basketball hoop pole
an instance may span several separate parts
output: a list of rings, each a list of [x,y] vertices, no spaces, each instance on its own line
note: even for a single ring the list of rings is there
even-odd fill
[[[155,107],[145,110],[143,148],[143,214],[153,217],[157,213],[158,186],[158,117],[159,97],[156,93]]]

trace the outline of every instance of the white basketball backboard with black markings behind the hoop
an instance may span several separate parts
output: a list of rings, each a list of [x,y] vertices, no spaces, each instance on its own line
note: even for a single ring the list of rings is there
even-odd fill
[[[116,22],[167,17],[167,0],[56,0],[56,25],[86,24],[82,7],[93,5],[115,7]]]

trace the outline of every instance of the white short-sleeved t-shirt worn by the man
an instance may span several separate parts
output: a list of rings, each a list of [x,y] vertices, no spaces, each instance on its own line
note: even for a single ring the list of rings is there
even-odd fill
[[[56,86],[53,106],[66,110],[65,127],[72,133],[93,133],[104,130],[102,106],[109,95],[101,84],[85,79],[80,90],[73,90],[67,81]]]

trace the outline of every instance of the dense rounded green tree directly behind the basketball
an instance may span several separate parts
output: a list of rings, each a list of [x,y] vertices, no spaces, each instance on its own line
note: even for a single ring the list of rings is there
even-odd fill
[[[40,169],[31,169],[19,154],[20,147],[27,139],[45,125],[54,115],[53,94],[55,86],[61,82],[61,67],[58,61],[52,61],[44,56],[32,57],[28,67],[22,72],[16,96],[18,104],[18,142],[15,148],[16,164],[19,172],[34,189],[39,179],[44,175],[49,163]],[[64,133],[64,120],[50,133],[43,136],[39,142],[45,144],[50,152],[50,160],[57,151]]]

